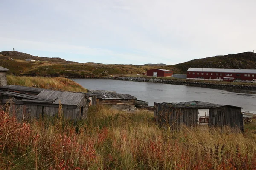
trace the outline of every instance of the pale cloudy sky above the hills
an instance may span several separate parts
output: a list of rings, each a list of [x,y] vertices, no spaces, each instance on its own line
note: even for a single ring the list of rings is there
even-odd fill
[[[256,0],[0,0],[0,51],[169,65],[256,52]]]

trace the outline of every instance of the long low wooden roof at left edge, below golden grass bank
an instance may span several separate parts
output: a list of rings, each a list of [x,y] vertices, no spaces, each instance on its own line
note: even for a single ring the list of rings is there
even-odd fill
[[[26,87],[26,86],[21,86],[21,85],[5,85],[5,86],[0,86],[0,90],[37,95],[41,91],[43,91],[45,89],[43,89],[43,88]]]

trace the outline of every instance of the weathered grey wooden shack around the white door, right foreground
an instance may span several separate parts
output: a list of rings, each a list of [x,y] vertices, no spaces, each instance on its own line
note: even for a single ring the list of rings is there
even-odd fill
[[[198,109],[209,109],[210,126],[230,126],[244,130],[241,107],[190,101],[180,103],[154,103],[154,117],[160,125],[179,129],[181,124],[198,125]]]

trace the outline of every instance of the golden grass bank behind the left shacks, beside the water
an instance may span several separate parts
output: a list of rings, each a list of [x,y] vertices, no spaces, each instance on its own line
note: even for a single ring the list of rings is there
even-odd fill
[[[46,88],[52,90],[65,90],[65,91],[81,91],[87,92],[87,89],[83,88],[73,80],[55,77],[28,77],[28,76],[13,76],[7,75],[8,85],[23,85],[27,87]]]

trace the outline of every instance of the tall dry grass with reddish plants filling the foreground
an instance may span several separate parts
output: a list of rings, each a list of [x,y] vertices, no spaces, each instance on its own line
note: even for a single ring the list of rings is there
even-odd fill
[[[0,169],[256,169],[256,136],[207,126],[169,132],[152,113],[92,107],[87,120],[17,122],[0,112]]]

